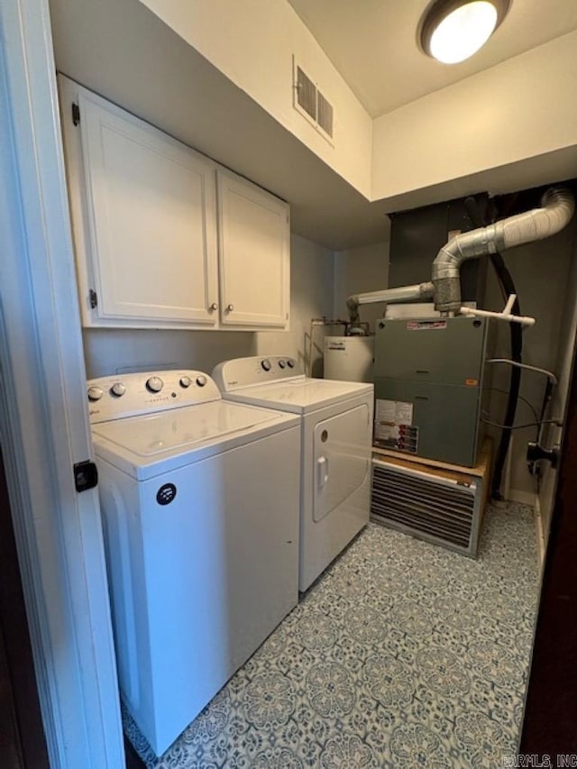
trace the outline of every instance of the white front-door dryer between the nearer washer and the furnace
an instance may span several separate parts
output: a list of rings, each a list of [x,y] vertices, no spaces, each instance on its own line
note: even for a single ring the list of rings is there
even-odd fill
[[[305,377],[292,358],[236,358],[213,371],[224,398],[298,414],[302,426],[299,590],[369,520],[373,386]]]

